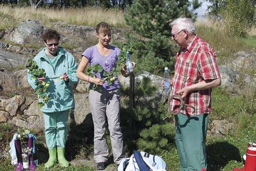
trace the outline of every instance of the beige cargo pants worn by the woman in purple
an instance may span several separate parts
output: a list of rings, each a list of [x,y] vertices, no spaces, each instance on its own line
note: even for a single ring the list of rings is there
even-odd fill
[[[94,125],[94,160],[96,163],[108,161],[109,149],[105,134],[108,121],[114,162],[119,164],[125,157],[120,127],[120,90],[90,90],[89,102]]]

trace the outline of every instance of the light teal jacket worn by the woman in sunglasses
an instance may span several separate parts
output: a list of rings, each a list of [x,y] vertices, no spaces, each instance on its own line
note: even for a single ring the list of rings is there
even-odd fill
[[[42,49],[33,59],[39,68],[45,69],[46,81],[50,81],[50,86],[47,89],[50,100],[41,108],[41,111],[59,112],[74,108],[73,85],[78,81],[77,62],[69,52],[61,47],[59,47],[58,56],[50,61],[45,50],[46,48]],[[64,72],[68,74],[69,81],[60,79]],[[36,80],[31,77],[32,75],[28,73],[28,83],[33,89],[36,89]]]

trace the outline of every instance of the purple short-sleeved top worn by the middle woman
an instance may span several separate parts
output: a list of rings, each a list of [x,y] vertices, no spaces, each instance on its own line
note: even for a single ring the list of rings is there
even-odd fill
[[[100,64],[102,66],[102,68],[105,71],[110,72],[112,67],[116,67],[114,66],[115,61],[119,60],[118,59],[118,55],[120,54],[120,49],[114,46],[111,46],[111,52],[108,56],[104,57],[102,55],[100,55],[99,50],[97,48],[96,45],[87,48],[82,56],[86,57],[89,59],[90,65],[96,65],[96,64]],[[97,73],[97,77],[98,78],[102,78],[103,77],[103,72],[101,73]],[[92,84],[90,83],[90,89],[92,89]],[[113,90],[113,89],[120,89],[120,83],[118,81],[118,78],[115,78],[115,81],[112,83],[111,86],[108,85],[108,82],[105,81],[102,84],[102,88],[106,89],[106,90]]]

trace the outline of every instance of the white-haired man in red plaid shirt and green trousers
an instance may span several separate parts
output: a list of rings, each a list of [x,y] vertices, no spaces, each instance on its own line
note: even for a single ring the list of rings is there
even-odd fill
[[[172,22],[172,40],[180,46],[175,58],[172,79],[173,94],[180,94],[185,104],[175,115],[175,139],[180,159],[180,170],[206,170],[205,140],[208,114],[211,111],[211,89],[221,84],[220,73],[212,48],[195,34],[190,18]],[[170,109],[177,112],[179,101],[173,99]]]

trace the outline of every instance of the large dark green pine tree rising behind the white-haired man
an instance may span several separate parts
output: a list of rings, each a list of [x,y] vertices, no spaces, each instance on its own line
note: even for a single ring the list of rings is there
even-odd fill
[[[140,63],[137,70],[159,74],[164,67],[173,65],[171,57],[177,49],[170,42],[172,27],[169,24],[178,17],[195,19],[193,11],[199,6],[197,0],[192,3],[188,0],[136,0],[127,7],[125,21],[133,34],[127,34],[126,40],[137,49],[135,60]]]

